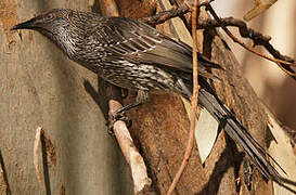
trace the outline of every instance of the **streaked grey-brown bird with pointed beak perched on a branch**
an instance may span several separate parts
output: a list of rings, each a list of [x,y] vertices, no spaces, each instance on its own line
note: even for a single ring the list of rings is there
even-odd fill
[[[138,92],[134,104],[144,103],[150,93],[192,95],[192,48],[151,26],[125,17],[52,10],[12,29],[34,29],[53,41],[69,58],[98,74],[108,82]],[[219,122],[259,168],[280,184],[292,181],[278,173],[268,153],[236,120],[207,82],[208,69],[217,67],[198,54],[198,103]],[[118,112],[119,113],[119,112]],[[272,158],[271,158],[272,159]]]

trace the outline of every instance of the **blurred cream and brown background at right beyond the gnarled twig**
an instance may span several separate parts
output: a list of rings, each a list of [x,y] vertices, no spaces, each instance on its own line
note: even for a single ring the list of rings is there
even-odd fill
[[[243,18],[254,4],[250,0],[217,0],[213,3],[220,17],[233,16]],[[248,22],[252,27],[263,35],[272,37],[272,46],[282,54],[295,58],[296,56],[296,1],[280,0],[261,15]],[[239,37],[236,28],[231,28]],[[222,32],[222,30],[220,30]],[[227,42],[243,66],[244,76],[248,79],[254,90],[262,102],[276,115],[278,119],[289,130],[289,134],[296,138],[296,81],[284,74],[274,63],[256,56],[234,43],[227,36]],[[250,44],[247,39],[242,39]],[[261,51],[260,47],[256,48]],[[265,52],[267,54],[267,52]]]

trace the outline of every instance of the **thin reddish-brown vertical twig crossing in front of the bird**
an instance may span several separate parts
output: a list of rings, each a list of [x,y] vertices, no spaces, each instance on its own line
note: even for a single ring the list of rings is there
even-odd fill
[[[176,188],[177,183],[179,182],[188,162],[189,158],[192,154],[192,148],[194,145],[194,129],[195,129],[195,120],[196,120],[196,113],[197,113],[197,98],[198,98],[198,91],[200,91],[200,86],[197,82],[197,35],[196,35],[196,23],[197,23],[197,4],[198,0],[195,0],[193,10],[192,10],[192,38],[193,38],[193,95],[191,99],[191,116],[190,116],[190,132],[189,132],[189,140],[188,140],[188,145],[186,145],[186,151],[182,160],[182,164],[175,176],[172,183],[168,190],[168,195],[170,195],[173,190]]]

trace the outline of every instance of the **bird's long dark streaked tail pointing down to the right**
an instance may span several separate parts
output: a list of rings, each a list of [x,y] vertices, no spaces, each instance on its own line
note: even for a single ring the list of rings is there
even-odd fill
[[[268,160],[268,157],[270,157],[270,159],[274,161],[276,166],[280,167],[280,165],[253,138],[250,132],[243,127],[243,125],[234,117],[233,113],[217,98],[215,92],[204,79],[201,79],[200,84],[202,88],[198,94],[198,103],[204,106],[219,122],[223,122],[224,131],[245,151],[245,153],[250,157],[252,161],[259,168],[261,173],[267,179],[273,180],[280,185],[293,191],[292,188],[285,186],[284,183],[295,185],[296,182],[283,178],[275,170],[274,166],[272,166]]]

